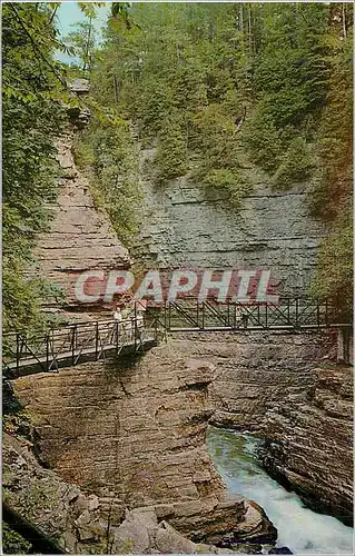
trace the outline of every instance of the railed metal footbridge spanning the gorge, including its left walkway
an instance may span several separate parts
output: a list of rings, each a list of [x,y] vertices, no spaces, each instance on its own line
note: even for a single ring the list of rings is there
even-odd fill
[[[272,302],[219,304],[179,299],[162,307],[147,307],[144,322],[137,316],[118,322],[99,320],[60,325],[46,334],[3,335],[3,375],[14,378],[41,371],[56,371],[81,363],[141,354],[174,332],[289,331],[326,328],[351,329],[327,301],[280,298]]]

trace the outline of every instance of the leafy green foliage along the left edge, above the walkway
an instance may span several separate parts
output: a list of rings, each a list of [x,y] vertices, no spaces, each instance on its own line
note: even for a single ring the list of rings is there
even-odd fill
[[[49,285],[29,278],[31,249],[50,220],[57,193],[55,138],[65,111],[55,101],[60,67],[46,4],[6,4],[2,10],[2,152],[3,152],[3,328],[46,326],[40,301]],[[45,62],[46,60],[46,62]]]

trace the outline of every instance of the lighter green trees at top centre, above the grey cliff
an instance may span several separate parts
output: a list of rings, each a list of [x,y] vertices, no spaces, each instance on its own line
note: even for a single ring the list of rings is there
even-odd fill
[[[93,72],[97,98],[131,118],[145,146],[157,146],[158,183],[189,170],[207,188],[213,170],[236,176],[246,61],[235,7],[135,4],[130,17],[134,28],[107,31]]]

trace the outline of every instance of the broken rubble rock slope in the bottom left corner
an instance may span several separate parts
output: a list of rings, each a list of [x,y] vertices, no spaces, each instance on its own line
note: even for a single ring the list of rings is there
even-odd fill
[[[16,523],[10,519],[10,526],[22,535],[26,534],[19,528],[22,520],[26,529],[30,527],[28,548],[31,552],[42,554],[41,543],[49,543],[46,549],[55,554],[228,552],[189,540],[159,519],[151,507],[126,510],[122,523],[114,525],[96,495],[65,483],[58,474],[41,467],[23,437],[6,434],[2,456],[6,517],[14,516]],[[248,518],[246,522],[249,525]]]

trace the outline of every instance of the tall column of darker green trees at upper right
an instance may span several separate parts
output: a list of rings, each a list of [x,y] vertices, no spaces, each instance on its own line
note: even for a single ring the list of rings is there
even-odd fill
[[[258,29],[256,102],[244,140],[282,189],[307,179],[313,168],[307,143],[316,139],[328,87],[327,20],[324,4],[269,4]]]

